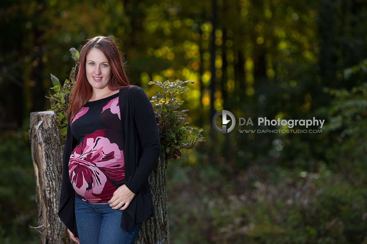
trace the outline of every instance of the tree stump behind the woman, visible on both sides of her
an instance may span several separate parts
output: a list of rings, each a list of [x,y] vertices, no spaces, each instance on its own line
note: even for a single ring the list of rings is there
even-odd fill
[[[59,209],[62,154],[64,143],[60,130],[55,125],[52,111],[32,112],[30,115],[30,144],[34,176],[36,178],[36,202],[39,221],[35,228],[40,234],[40,243],[74,244],[65,225],[60,221]],[[143,223],[136,243],[170,244],[167,202],[167,160],[163,152],[149,177],[152,190],[154,217]]]

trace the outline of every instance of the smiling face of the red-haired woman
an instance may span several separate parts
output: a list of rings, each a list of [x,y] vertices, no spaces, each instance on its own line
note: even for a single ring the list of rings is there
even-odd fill
[[[109,89],[108,84],[112,77],[111,66],[103,52],[97,48],[92,48],[87,53],[86,75],[94,92],[96,89]]]

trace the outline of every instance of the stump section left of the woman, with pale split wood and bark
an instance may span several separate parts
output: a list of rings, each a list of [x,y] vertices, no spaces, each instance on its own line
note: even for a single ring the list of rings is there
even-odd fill
[[[62,153],[64,142],[52,111],[30,114],[29,138],[32,150],[40,243],[75,243],[59,219]]]

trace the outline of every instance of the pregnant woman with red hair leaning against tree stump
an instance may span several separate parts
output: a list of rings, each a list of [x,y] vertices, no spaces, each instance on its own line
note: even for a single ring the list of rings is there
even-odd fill
[[[153,216],[148,176],[160,138],[153,107],[130,85],[112,39],[82,48],[68,116],[59,218],[77,243],[134,243]]]

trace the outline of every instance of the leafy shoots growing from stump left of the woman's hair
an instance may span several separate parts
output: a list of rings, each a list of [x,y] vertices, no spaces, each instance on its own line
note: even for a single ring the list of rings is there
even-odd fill
[[[75,66],[72,68],[69,79],[66,79],[64,84],[61,85],[59,79],[55,75],[51,74],[51,81],[54,87],[50,88],[49,94],[51,108],[49,111],[54,111],[56,114],[56,125],[61,130],[61,136],[66,137],[66,127],[68,125],[67,112],[69,110],[69,97],[75,85],[75,71],[77,68],[77,60],[79,59],[79,52],[75,48],[69,49],[72,58],[75,60]],[[51,90],[53,94],[51,94]]]

